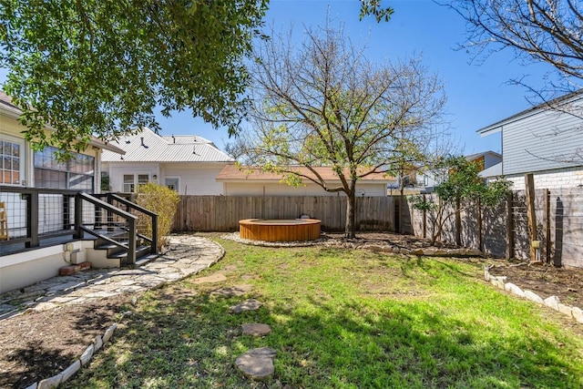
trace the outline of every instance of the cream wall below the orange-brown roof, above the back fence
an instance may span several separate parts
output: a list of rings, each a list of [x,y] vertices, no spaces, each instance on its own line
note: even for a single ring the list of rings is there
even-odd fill
[[[338,196],[337,192],[327,192],[314,183],[291,187],[279,182],[225,182],[223,194],[226,196]],[[356,185],[356,195],[386,196],[386,182],[359,183]]]

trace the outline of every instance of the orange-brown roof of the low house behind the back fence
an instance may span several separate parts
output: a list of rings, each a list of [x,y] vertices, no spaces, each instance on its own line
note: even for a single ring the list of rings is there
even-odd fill
[[[310,169],[308,169],[306,167],[299,167],[299,166],[296,167],[296,169],[298,171],[302,172],[302,174],[305,174],[305,175],[310,176],[310,177],[315,179],[315,176],[313,175],[312,171],[310,171]],[[340,179],[338,178],[338,175],[336,175],[336,173],[333,172],[331,167],[319,166],[319,167],[313,167],[312,169],[315,169],[318,172],[318,174],[320,174],[322,179],[324,179],[324,181],[340,181]],[[283,179],[283,175],[276,174],[276,173],[263,172],[263,171],[261,171],[261,169],[258,169],[258,168],[251,168],[251,167],[238,168],[235,165],[227,165],[222,170],[220,170],[220,173],[216,179],[217,179],[217,181],[247,181],[247,182],[251,182],[251,181],[261,181],[261,182],[275,181],[275,182],[279,182],[279,181],[281,181],[281,179]],[[373,173],[369,176],[366,176],[363,179],[360,179],[360,182],[376,181],[376,182],[381,183],[381,182],[391,182],[394,180],[395,180],[394,177],[387,176],[384,173]]]

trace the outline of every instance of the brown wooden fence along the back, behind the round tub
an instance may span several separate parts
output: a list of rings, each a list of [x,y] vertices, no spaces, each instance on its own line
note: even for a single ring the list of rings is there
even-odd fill
[[[322,220],[322,230],[344,230],[345,196],[180,196],[173,230],[235,231],[242,219]],[[358,197],[356,229],[394,230],[393,197]]]

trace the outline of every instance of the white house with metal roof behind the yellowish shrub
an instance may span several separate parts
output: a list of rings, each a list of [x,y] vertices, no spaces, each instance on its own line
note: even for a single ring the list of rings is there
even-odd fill
[[[149,128],[112,142],[125,151],[123,156],[104,151],[103,170],[109,189],[133,192],[136,185],[156,182],[181,195],[220,195],[222,185],[215,177],[234,159],[210,140],[193,135],[162,137]]]

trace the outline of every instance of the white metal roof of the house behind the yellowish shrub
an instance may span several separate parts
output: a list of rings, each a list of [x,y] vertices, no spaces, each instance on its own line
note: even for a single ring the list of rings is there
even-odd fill
[[[210,140],[197,136],[161,137],[149,128],[120,137],[112,144],[126,151],[126,162],[234,162]],[[104,152],[104,162],[119,162],[114,153]]]

